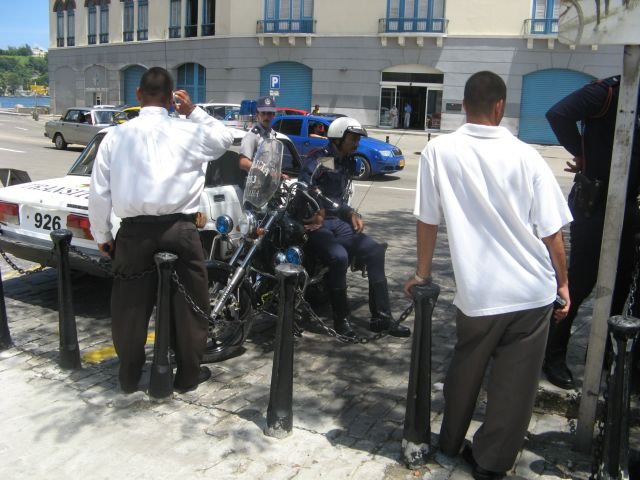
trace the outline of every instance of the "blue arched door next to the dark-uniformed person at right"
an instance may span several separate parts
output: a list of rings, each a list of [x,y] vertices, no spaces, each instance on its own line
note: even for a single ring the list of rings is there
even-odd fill
[[[520,128],[518,137],[528,143],[557,145],[553,130],[545,117],[556,102],[593,80],[582,72],[550,68],[529,73],[522,78]]]

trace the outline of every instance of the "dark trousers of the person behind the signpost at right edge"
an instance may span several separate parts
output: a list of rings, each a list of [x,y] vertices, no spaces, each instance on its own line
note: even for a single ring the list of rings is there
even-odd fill
[[[629,293],[631,275],[634,266],[634,212],[627,206],[622,237],[616,284],[611,303],[611,315],[622,313]],[[604,206],[589,218],[576,217],[571,223],[571,254],[569,256],[569,297],[571,307],[564,320],[557,322],[551,319],[549,341],[547,342],[547,358],[565,358],[567,345],[571,336],[571,325],[578,314],[582,302],[589,296],[598,279],[600,247],[604,225]]]

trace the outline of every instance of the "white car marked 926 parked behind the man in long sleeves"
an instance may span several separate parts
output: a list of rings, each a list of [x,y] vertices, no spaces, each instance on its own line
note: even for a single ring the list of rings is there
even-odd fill
[[[117,128],[117,127],[114,127]],[[0,248],[16,257],[31,262],[53,266],[52,230],[66,228],[73,232],[71,244],[94,261],[71,252],[71,268],[93,275],[104,276],[105,272],[96,262],[108,262],[98,251],[91,235],[88,217],[89,185],[93,162],[108,129],[104,129],[86,146],[74,162],[69,173],[62,178],[22,183],[0,189]],[[234,130],[234,135],[246,132]],[[297,176],[300,157],[284,135],[278,135],[284,144],[282,170],[289,176]],[[239,142],[234,142],[239,143]],[[200,212],[207,223],[200,229],[205,257],[225,257],[225,252],[213,252],[213,239],[217,235],[215,220],[229,215],[236,225],[244,218],[238,184],[245,173],[238,167],[238,145],[230,147],[218,160],[206,166],[205,188],[200,199]],[[113,236],[120,226],[120,219],[112,214]],[[237,235],[240,235],[239,233]],[[216,242],[222,245],[220,242]],[[220,247],[216,247],[220,248]],[[230,252],[227,252],[230,253]],[[215,255],[214,255],[215,254]]]

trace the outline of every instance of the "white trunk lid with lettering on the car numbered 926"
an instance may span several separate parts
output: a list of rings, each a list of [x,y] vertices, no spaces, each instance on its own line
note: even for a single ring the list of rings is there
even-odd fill
[[[67,175],[21,183],[0,189],[0,200],[46,208],[86,210],[89,205],[89,181],[90,177]]]

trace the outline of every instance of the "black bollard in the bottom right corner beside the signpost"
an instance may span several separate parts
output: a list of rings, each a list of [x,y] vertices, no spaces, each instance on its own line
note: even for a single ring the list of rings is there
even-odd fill
[[[603,457],[597,478],[629,478],[631,361],[640,319],[615,315],[607,323],[614,357],[607,396]]]

